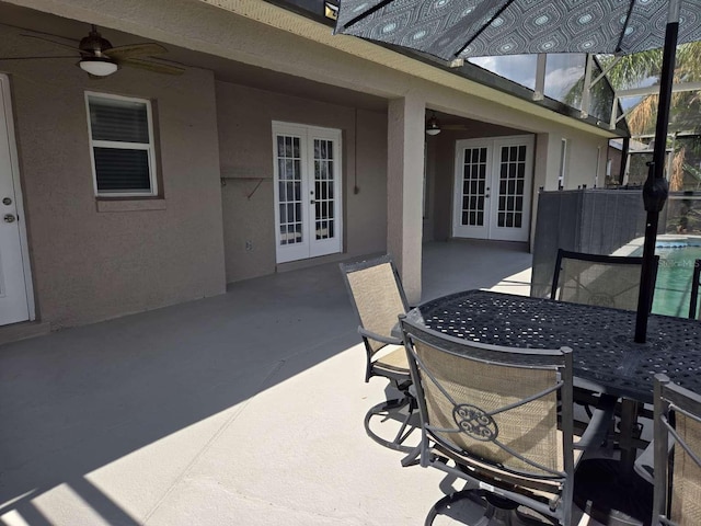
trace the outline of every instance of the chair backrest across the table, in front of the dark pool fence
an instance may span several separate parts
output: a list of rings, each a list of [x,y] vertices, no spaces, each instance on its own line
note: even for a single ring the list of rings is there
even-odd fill
[[[655,256],[655,276],[659,256]],[[587,254],[560,249],[550,298],[636,310],[642,265],[642,258]]]

